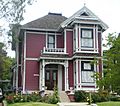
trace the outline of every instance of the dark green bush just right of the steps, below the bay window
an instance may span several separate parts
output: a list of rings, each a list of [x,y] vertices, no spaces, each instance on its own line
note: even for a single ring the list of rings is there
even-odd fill
[[[85,102],[88,94],[85,91],[75,91],[75,101]]]

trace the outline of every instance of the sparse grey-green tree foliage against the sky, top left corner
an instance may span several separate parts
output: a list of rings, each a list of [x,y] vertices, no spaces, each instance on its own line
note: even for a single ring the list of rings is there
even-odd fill
[[[31,5],[34,0],[0,0],[0,19],[5,18],[9,23],[20,23],[26,5]]]

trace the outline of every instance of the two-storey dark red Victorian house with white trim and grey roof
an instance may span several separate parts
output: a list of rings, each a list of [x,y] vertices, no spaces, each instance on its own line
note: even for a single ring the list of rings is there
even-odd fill
[[[23,93],[53,90],[55,85],[61,91],[97,90],[92,76],[98,72],[102,77],[102,33],[107,28],[86,6],[69,18],[48,13],[23,25],[13,86]]]

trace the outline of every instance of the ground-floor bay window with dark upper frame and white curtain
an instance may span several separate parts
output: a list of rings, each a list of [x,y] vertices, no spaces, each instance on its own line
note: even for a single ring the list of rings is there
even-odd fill
[[[94,64],[90,61],[81,62],[81,80],[83,83],[93,83]]]

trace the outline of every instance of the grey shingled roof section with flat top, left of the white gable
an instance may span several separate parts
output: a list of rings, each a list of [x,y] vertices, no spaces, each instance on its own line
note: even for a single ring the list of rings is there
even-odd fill
[[[48,15],[31,21],[22,26],[22,28],[32,28],[32,29],[57,29],[60,24],[67,18],[62,16],[62,14],[48,13]]]

